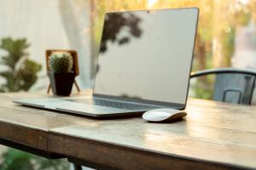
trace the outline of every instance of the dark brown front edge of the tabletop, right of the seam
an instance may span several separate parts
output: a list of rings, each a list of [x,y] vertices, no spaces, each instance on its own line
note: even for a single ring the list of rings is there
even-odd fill
[[[144,150],[94,139],[78,139],[61,134],[50,134],[49,139],[55,141],[55,144],[50,145],[51,149],[58,150],[60,147],[56,144],[58,142],[62,145],[61,154],[68,153],[67,157],[79,159],[81,162],[85,160],[82,164],[84,166],[87,166],[86,161],[89,161],[111,169],[254,169],[254,167],[166,154],[153,149]],[[211,154],[211,150],[208,150],[208,154]]]

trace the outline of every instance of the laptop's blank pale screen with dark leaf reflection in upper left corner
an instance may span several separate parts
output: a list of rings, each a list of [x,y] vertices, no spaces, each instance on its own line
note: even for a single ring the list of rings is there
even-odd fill
[[[105,15],[94,94],[185,104],[197,8]]]

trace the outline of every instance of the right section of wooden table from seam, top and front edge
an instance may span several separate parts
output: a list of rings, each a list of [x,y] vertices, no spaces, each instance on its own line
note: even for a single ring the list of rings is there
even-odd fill
[[[256,168],[255,109],[190,99],[183,122],[148,123],[139,117],[50,129],[49,150],[102,165],[123,165],[123,169],[132,169],[133,164],[142,165],[138,169],[147,169],[149,165],[151,169],[170,169],[173,156],[189,158],[188,166],[192,166],[191,160],[201,160]],[[61,147],[55,145],[60,142]],[[135,153],[138,156],[129,155]],[[155,167],[157,162],[148,157],[156,159],[155,155],[166,156],[170,164]]]

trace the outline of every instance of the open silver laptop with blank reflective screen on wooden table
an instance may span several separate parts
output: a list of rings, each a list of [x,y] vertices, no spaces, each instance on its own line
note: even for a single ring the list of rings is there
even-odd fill
[[[198,13],[198,8],[107,13],[92,96],[14,102],[96,117],[183,110]]]

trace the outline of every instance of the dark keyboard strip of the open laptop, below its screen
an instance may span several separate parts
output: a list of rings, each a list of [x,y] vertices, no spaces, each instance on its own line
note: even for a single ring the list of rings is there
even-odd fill
[[[118,109],[127,109],[127,110],[140,110],[140,109],[156,109],[157,106],[151,105],[137,105],[131,103],[123,103],[113,100],[105,100],[105,99],[65,99],[67,101],[79,102],[83,104],[90,104],[90,105],[101,105],[107,107],[113,107]]]

